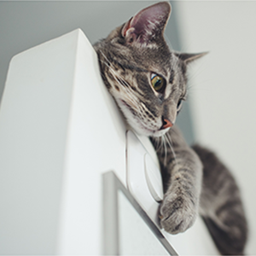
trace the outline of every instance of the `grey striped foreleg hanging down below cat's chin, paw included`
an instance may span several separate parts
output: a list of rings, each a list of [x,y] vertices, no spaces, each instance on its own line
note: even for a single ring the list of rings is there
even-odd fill
[[[167,232],[177,234],[195,222],[201,193],[202,165],[177,128],[172,127],[166,135],[167,139],[169,136],[172,138],[172,148],[166,143],[166,147],[157,150],[165,189],[160,205],[160,225]],[[156,141],[152,139],[155,148],[158,148]]]

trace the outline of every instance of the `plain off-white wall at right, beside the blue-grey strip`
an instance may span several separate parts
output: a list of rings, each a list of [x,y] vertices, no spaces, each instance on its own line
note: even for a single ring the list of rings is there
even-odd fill
[[[183,50],[210,51],[191,68],[189,95],[197,142],[234,172],[256,253],[256,2],[179,2]],[[173,10],[175,11],[175,10]]]

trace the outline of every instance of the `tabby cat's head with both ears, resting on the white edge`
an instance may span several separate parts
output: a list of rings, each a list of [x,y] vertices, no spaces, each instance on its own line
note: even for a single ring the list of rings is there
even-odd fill
[[[170,3],[151,5],[95,45],[109,92],[131,127],[151,137],[174,125],[187,95],[187,65],[204,55],[169,49],[164,30],[170,14]]]

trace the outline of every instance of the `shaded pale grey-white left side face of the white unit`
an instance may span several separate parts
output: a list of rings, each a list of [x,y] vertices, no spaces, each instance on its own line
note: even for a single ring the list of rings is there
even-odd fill
[[[0,111],[0,254],[55,252],[77,34],[10,63]]]

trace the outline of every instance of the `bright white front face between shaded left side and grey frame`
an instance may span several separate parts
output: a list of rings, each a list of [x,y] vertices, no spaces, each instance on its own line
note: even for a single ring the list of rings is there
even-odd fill
[[[83,32],[74,33],[77,52],[57,253],[97,255],[102,249],[101,174],[113,170],[125,183],[125,125],[102,84],[96,52]]]

